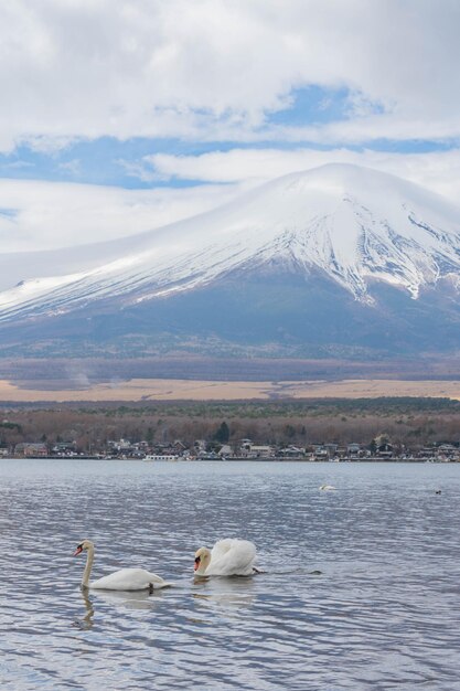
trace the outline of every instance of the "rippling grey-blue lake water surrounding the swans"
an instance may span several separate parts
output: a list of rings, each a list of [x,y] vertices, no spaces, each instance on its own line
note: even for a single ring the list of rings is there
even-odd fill
[[[460,689],[459,519],[453,464],[0,460],[0,689]],[[226,536],[265,573],[194,582]]]

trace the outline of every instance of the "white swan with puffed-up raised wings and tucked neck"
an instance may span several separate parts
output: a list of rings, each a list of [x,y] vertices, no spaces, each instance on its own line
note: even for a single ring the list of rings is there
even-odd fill
[[[256,545],[248,540],[227,538],[215,543],[212,551],[200,548],[195,553],[196,576],[252,576],[260,573],[255,566]]]

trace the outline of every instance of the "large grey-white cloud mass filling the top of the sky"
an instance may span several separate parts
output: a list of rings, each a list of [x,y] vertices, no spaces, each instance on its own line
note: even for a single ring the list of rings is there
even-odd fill
[[[449,0],[2,2],[0,149],[105,135],[250,140],[311,84],[350,89],[349,120],[268,136],[459,137],[459,25]]]

